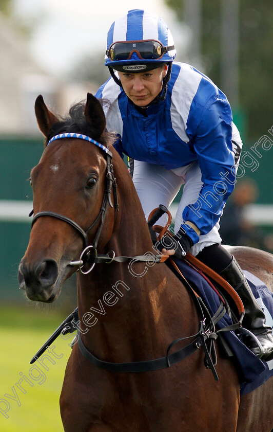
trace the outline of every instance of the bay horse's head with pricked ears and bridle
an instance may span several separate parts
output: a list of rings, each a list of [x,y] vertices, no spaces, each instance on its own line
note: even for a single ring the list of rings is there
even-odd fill
[[[29,299],[52,302],[84,247],[95,241],[93,248],[103,250],[112,235],[114,149],[102,106],[91,94],[66,118],[52,114],[40,95],[35,114],[45,150],[31,171],[34,217],[18,281]]]

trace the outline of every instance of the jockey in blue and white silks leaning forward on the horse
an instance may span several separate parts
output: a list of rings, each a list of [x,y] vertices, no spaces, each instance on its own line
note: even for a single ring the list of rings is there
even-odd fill
[[[273,358],[273,336],[236,259],[221,246],[219,220],[236,183],[242,141],[226,96],[204,74],[174,62],[164,21],[130,10],[110,27],[105,65],[111,78],[96,93],[106,100],[107,130],[129,169],[144,213],[169,207],[184,185],[174,237],[163,252],[188,251],[226,279],[245,307],[244,325]],[[252,339],[251,339],[252,340]],[[259,352],[255,344],[250,349]]]

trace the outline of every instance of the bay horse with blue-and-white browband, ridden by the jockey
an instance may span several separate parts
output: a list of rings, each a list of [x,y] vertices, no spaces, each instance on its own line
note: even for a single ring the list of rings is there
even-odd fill
[[[82,343],[105,362],[165,356],[172,340],[198,332],[199,312],[166,264],[112,261],[114,254],[145,256],[153,244],[100,102],[88,94],[86,103],[60,119],[40,95],[35,113],[46,148],[31,171],[34,218],[19,285],[30,300],[53,302],[76,271],[72,263],[83,263],[83,243],[87,254],[111,251],[107,263],[92,265],[90,272],[85,264],[77,273]],[[118,185],[116,193],[109,182]],[[272,287],[270,254],[249,248],[232,253]],[[272,379],[240,399],[235,367],[217,351],[218,382],[204,367],[202,350],[169,368],[124,373],[96,367],[76,343],[60,397],[65,432],[270,432]]]

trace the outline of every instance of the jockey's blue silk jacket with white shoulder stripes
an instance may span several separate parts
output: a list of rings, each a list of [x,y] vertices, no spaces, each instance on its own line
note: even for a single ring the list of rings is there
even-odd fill
[[[237,147],[232,147],[232,141],[242,146],[226,96],[198,70],[177,62],[173,62],[166,99],[149,106],[147,116],[112,78],[95,96],[108,101],[104,105],[107,130],[121,136],[115,145],[121,155],[168,170],[198,161],[203,186],[198,200],[183,210],[182,219],[206,235],[218,222],[235,185]],[[196,244],[197,232],[182,227]]]

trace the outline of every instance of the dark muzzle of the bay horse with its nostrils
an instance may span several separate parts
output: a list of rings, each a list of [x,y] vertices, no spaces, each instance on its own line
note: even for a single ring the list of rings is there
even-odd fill
[[[58,266],[52,259],[27,265],[22,259],[18,269],[19,287],[26,291],[30,300],[51,302],[54,284],[58,277]]]

